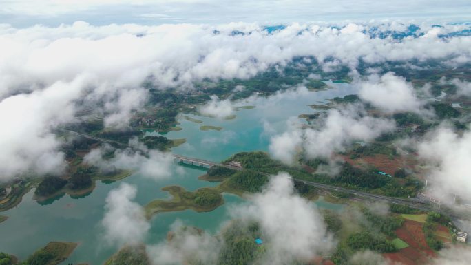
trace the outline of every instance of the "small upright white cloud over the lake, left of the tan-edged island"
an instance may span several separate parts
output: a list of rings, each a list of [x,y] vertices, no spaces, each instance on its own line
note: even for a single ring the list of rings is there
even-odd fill
[[[101,221],[107,244],[123,246],[143,242],[150,224],[145,219],[143,208],[136,202],[136,187],[122,183],[109,192],[106,198],[105,216]]]

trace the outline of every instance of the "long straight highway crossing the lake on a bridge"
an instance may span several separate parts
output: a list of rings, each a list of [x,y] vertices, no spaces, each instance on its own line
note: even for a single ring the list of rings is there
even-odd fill
[[[78,133],[76,131],[70,131],[70,130],[66,130],[66,129],[61,129],[61,131],[66,131],[70,134],[74,134],[75,136],[81,136],[83,138],[97,140],[99,142],[106,142],[106,143],[109,143],[109,144],[120,145],[122,147],[129,147],[129,145],[125,145],[121,142],[116,142],[116,141],[113,141],[113,140],[98,138],[98,137],[90,136],[90,135],[87,135],[87,134],[81,134],[81,133]],[[180,159],[180,160],[188,160],[188,161],[192,161],[192,162],[196,162],[196,163],[200,163],[200,164],[206,164],[206,165],[212,165],[212,166],[218,166],[218,167],[226,167],[226,168],[234,169],[234,170],[241,170],[242,169],[240,167],[231,167],[229,165],[221,164],[221,163],[218,163],[218,162],[212,162],[212,161],[208,161],[208,160],[202,160],[202,159],[199,159],[199,158],[189,158],[189,157],[186,157],[186,156],[179,156],[179,155],[176,155],[176,154],[172,154],[172,156],[174,156],[174,158],[177,158],[177,159]],[[260,173],[262,173],[266,176],[269,175],[268,173],[264,173],[264,172],[260,172]],[[344,187],[338,187],[338,186],[329,185],[329,184],[322,184],[322,183],[318,183],[318,182],[310,182],[310,181],[306,181],[306,180],[300,180],[300,179],[297,179],[297,178],[293,178],[293,180],[296,181],[296,182],[301,182],[301,183],[304,183],[306,185],[316,187],[318,189],[323,189],[323,190],[326,190],[326,191],[340,191],[340,192],[344,192],[344,193],[351,193],[351,194],[355,195],[356,197],[363,198],[363,199],[366,199],[366,200],[382,201],[382,202],[388,202],[388,203],[391,203],[391,204],[400,204],[400,205],[404,205],[404,206],[409,206],[410,208],[419,209],[419,210],[422,210],[422,211],[437,211],[439,213],[449,215],[452,218],[471,219],[471,214],[463,215],[463,214],[459,214],[459,213],[453,213],[453,212],[449,211],[448,209],[436,209],[435,207],[430,206],[428,204],[421,204],[419,202],[414,202],[414,201],[408,200],[408,199],[401,199],[401,198],[388,197],[388,196],[384,196],[384,195],[377,195],[377,194],[373,194],[373,193],[367,193],[367,192],[364,192],[364,191],[357,191],[355,189],[347,189],[347,188],[344,188]]]

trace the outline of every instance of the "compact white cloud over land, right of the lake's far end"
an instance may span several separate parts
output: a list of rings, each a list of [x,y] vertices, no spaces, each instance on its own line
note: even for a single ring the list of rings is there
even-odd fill
[[[359,86],[359,97],[385,112],[423,112],[412,84],[392,72],[370,76]]]

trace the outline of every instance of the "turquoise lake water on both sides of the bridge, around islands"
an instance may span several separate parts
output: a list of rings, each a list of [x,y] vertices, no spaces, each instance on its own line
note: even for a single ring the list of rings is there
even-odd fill
[[[203,123],[193,123],[183,118],[178,120],[182,131],[171,131],[168,138],[186,138],[184,145],[175,147],[174,153],[202,158],[205,160],[225,160],[240,151],[268,151],[269,140],[273,134],[286,129],[286,120],[297,118],[299,114],[312,114],[315,110],[308,104],[326,103],[335,96],[353,94],[353,88],[346,83],[326,82],[333,88],[320,92],[308,92],[298,89],[296,92],[284,92],[269,98],[251,98],[234,103],[235,106],[253,105],[255,109],[240,109],[233,120],[189,115]],[[201,125],[223,127],[221,131],[200,131]],[[174,167],[180,167],[174,165]],[[175,170],[174,170],[175,171]],[[2,212],[9,219],[0,224],[0,251],[16,255],[20,259],[28,257],[36,249],[50,241],[79,242],[80,245],[63,264],[87,262],[100,265],[117,251],[116,246],[107,246],[101,240],[101,220],[105,213],[105,198],[121,182],[134,184],[137,189],[138,204],[145,205],[156,198],[169,198],[168,193],[160,188],[168,185],[180,185],[193,191],[200,187],[214,186],[216,183],[198,180],[205,173],[198,169],[181,167],[182,174],[165,180],[151,180],[136,173],[119,182],[103,184],[97,182],[96,189],[85,198],[72,199],[63,196],[48,205],[41,205],[32,200],[33,191],[26,194],[23,202],[14,209]],[[151,220],[151,231],[147,244],[156,244],[165,240],[169,226],[176,220],[198,226],[216,233],[222,222],[228,220],[227,207],[242,202],[242,198],[224,194],[225,204],[209,213],[196,213],[191,210],[174,213],[161,213]],[[323,200],[315,202],[320,208],[342,208],[338,204],[329,204]]]

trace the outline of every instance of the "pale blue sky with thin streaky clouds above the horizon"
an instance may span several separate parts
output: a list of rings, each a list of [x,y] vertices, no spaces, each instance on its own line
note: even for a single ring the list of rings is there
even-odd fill
[[[384,19],[470,21],[469,0],[1,0],[0,23],[15,27],[87,21],[110,23],[220,24],[235,21],[266,25],[312,21]]]

